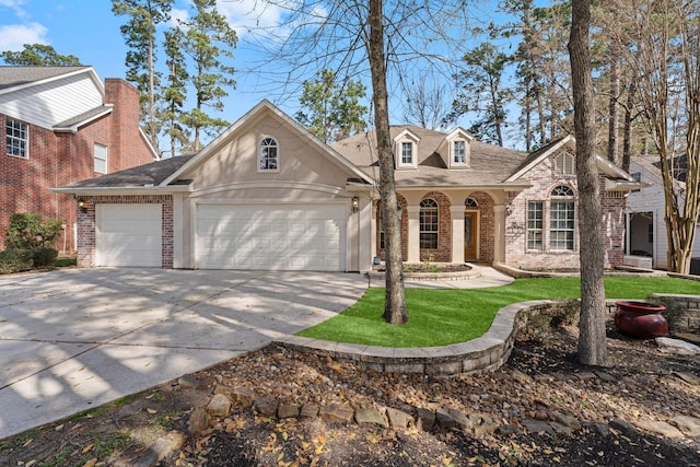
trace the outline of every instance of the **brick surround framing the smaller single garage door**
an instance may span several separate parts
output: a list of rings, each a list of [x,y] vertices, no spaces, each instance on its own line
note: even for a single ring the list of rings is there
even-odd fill
[[[163,231],[162,258],[163,268],[173,267],[173,196],[172,195],[133,195],[133,196],[94,196],[83,198],[85,209],[78,212],[78,266],[95,266],[96,248],[96,207],[105,205],[163,205],[161,220]]]

